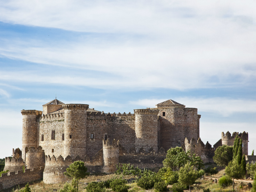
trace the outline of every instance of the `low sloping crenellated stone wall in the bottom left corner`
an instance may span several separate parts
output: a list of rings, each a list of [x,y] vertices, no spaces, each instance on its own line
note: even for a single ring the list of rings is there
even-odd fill
[[[0,190],[42,179],[43,171],[44,167],[35,167],[33,169],[26,169],[24,173],[22,170],[3,173],[2,177],[0,177]]]

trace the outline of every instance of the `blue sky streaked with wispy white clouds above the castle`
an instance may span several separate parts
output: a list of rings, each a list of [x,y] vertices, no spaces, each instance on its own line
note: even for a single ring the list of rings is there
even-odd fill
[[[0,158],[21,148],[22,109],[55,99],[133,112],[167,99],[200,137],[248,132],[256,149],[254,1],[0,0]]]

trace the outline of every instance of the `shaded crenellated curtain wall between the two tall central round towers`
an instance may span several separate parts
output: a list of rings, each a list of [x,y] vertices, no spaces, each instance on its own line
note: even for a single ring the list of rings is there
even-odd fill
[[[116,114],[117,115],[117,114]],[[135,149],[135,116],[87,116],[86,121],[86,151],[87,156],[93,157],[102,149],[102,139],[119,139],[124,153]],[[93,134],[93,138],[90,137]]]

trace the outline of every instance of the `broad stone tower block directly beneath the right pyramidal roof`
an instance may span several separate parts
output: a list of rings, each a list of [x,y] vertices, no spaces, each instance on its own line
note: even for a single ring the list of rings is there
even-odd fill
[[[188,140],[198,138],[199,116],[196,108],[157,108],[159,109],[159,147],[168,150],[182,146]],[[163,112],[165,116],[163,116]]]

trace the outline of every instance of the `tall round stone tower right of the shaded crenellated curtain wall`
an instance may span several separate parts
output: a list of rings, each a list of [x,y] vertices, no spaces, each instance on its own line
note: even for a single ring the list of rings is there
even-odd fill
[[[136,152],[154,150],[157,153],[157,114],[158,109],[134,109]]]

